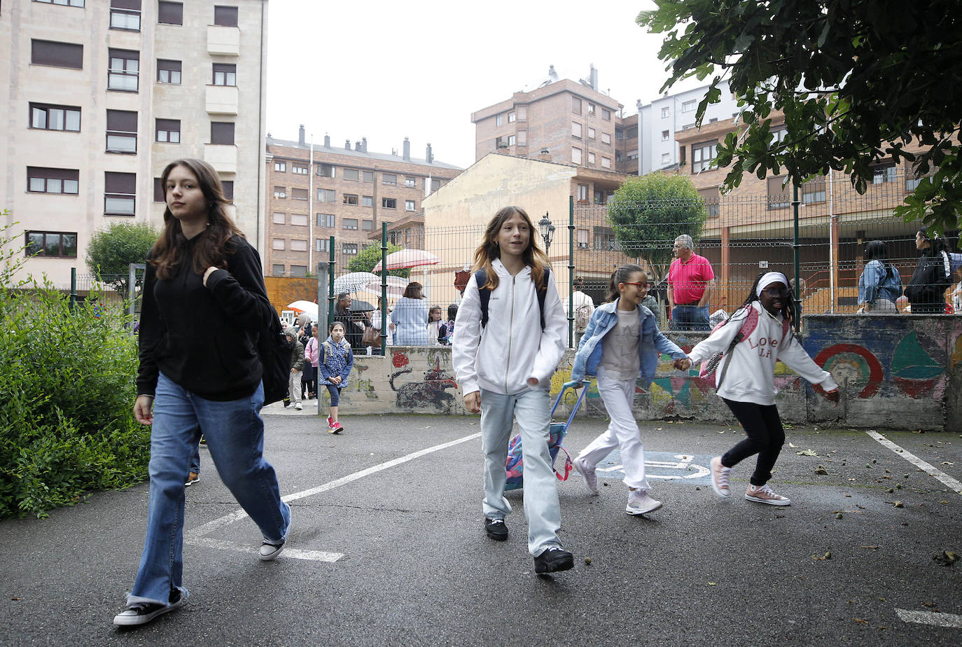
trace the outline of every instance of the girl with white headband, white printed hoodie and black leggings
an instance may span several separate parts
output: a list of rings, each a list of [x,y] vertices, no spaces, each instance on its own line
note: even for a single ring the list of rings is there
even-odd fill
[[[795,297],[781,272],[759,274],[745,305],[731,319],[688,353],[699,362],[724,352],[715,372],[715,388],[745,429],[747,438],[711,461],[712,488],[720,497],[728,496],[731,469],[748,456],[758,454],[755,471],[745,493],[748,501],[769,505],[790,505],[788,497],[775,494],[768,486],[772,467],[785,443],[774,386],[775,362],[779,359],[813,384],[822,385],[825,397],[839,401],[838,384],[832,375],[816,364],[792,334]],[[758,323],[747,338],[734,344],[735,336],[749,317]],[[785,325],[787,323],[788,325]],[[685,360],[681,360],[683,363]],[[729,366],[725,366],[729,364]],[[680,368],[684,369],[682,365]],[[723,379],[722,379],[723,377]]]

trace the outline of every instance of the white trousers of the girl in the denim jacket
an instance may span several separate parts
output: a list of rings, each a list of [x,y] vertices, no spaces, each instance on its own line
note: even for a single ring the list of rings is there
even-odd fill
[[[578,454],[589,467],[595,467],[615,448],[620,448],[624,484],[640,490],[648,489],[645,478],[645,446],[635,422],[631,405],[635,401],[635,379],[612,379],[598,368],[598,394],[608,409],[611,422],[600,436]]]

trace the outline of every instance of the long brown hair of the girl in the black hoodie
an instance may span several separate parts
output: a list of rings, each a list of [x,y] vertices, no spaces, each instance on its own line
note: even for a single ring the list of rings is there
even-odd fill
[[[204,199],[207,200],[207,228],[197,234],[200,238],[193,247],[193,256],[190,259],[193,271],[202,274],[211,266],[224,268],[227,257],[235,251],[229,244],[231,237],[237,234],[243,238],[244,235],[227,215],[226,205],[230,201],[224,196],[217,171],[203,160],[184,159],[171,162],[161,174],[165,200],[167,176],[176,167],[187,168],[194,174],[200,190],[204,192]],[[167,280],[173,276],[177,266],[185,260],[182,256],[187,251],[187,242],[180,220],[173,217],[170,207],[165,207],[164,230],[150,252],[150,263],[157,269],[158,278]]]

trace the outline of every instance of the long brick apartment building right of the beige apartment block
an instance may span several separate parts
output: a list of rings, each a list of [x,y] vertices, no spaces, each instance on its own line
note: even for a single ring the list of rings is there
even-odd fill
[[[330,258],[335,237],[338,272],[365,246],[382,222],[423,222],[421,200],[440,189],[461,168],[434,159],[431,144],[424,159],[411,156],[407,138],[401,151],[367,151],[367,138],[332,146],[306,141],[304,126],[296,142],[266,139],[267,191],[264,267],[271,276],[304,276]]]

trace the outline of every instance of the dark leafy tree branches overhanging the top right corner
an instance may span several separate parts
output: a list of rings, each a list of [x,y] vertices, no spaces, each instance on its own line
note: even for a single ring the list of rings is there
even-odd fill
[[[957,0],[655,0],[637,22],[666,34],[658,56],[671,62],[662,87],[713,76],[696,123],[721,98],[744,106],[745,130],[718,146],[731,165],[728,189],[746,171],[764,178],[784,167],[800,186],[829,168],[865,193],[872,164],[907,161],[921,181],[896,209],[905,220],[951,229],[962,208],[962,12]],[[772,110],[788,129],[773,141]],[[952,138],[955,138],[953,142]],[[923,151],[905,146],[919,143]]]

